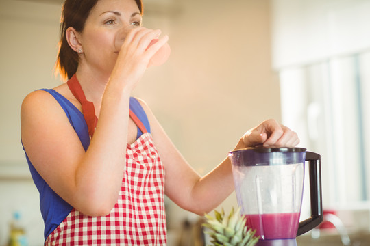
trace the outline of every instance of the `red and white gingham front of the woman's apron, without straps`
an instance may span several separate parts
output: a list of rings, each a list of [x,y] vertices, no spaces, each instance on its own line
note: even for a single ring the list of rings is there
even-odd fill
[[[110,214],[90,217],[73,209],[45,245],[166,245],[164,167],[149,133],[127,146],[126,160]]]

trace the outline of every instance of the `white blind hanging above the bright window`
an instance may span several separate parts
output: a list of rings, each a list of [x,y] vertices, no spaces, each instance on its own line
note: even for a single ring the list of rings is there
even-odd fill
[[[369,49],[369,0],[272,0],[273,67]]]

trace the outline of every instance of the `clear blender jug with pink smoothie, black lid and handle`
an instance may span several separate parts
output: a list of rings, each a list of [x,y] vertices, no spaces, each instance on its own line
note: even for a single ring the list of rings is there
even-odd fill
[[[257,245],[295,246],[321,223],[320,155],[305,148],[245,148],[230,152],[238,206]],[[299,222],[304,164],[309,162],[311,217]]]

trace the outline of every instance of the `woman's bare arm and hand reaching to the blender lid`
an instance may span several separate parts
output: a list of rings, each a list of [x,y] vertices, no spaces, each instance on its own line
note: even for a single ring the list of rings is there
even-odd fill
[[[175,148],[153,113],[144,105],[153,139],[166,171],[166,195],[180,207],[198,215],[209,213],[234,191],[232,166],[228,158],[206,176],[199,176]],[[262,122],[240,138],[234,149],[264,143],[266,146],[295,146],[297,135],[275,120]]]

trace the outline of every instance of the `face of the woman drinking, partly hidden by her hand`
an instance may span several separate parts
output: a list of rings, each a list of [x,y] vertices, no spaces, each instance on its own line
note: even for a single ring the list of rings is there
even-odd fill
[[[114,45],[117,34],[127,33],[129,29],[139,27],[141,22],[140,10],[134,0],[97,1],[79,35],[84,50],[80,65],[84,63],[84,66],[109,76],[119,51]]]

